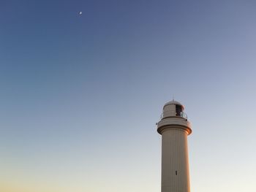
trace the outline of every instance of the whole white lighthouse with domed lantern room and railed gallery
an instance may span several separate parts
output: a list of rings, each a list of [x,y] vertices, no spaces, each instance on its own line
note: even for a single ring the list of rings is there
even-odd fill
[[[161,192],[189,192],[187,136],[192,130],[181,103],[165,104],[157,132],[162,135]]]

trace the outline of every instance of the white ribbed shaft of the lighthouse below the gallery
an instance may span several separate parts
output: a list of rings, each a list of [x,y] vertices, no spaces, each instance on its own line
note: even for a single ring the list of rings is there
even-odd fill
[[[187,131],[162,131],[162,192],[189,192]]]

